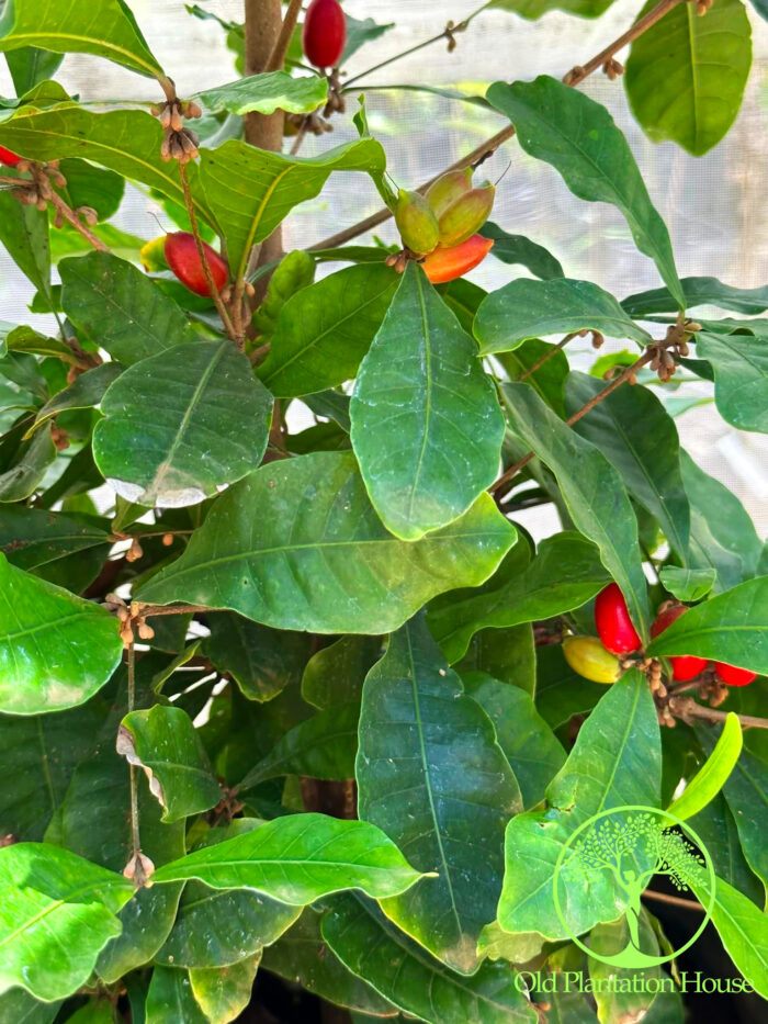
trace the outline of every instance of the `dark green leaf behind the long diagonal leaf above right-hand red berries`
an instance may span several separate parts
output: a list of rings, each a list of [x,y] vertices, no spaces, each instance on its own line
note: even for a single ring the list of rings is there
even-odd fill
[[[574,415],[606,386],[586,373],[565,382],[565,410]],[[637,424],[643,429],[637,429]],[[618,387],[574,424],[621,474],[633,498],[651,513],[670,547],[687,559],[690,509],[682,486],[675,421],[651,389]]]

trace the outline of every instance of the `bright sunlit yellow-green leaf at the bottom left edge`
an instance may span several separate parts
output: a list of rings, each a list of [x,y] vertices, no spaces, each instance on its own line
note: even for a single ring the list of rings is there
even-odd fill
[[[89,979],[133,885],[122,875],[44,843],[0,849],[0,992],[14,986],[45,1001]]]

